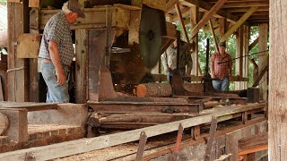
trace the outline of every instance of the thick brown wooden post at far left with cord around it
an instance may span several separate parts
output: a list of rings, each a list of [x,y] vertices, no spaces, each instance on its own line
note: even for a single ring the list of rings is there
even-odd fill
[[[17,38],[29,31],[28,1],[8,3],[8,80],[9,101],[29,101],[29,60],[17,58]]]

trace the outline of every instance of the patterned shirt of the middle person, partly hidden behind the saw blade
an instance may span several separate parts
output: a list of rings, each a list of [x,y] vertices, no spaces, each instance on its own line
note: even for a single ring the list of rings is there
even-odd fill
[[[180,55],[179,55],[179,68],[186,68],[187,71],[191,71],[192,69],[192,59],[190,52],[188,51],[188,44],[184,41],[180,41]],[[168,59],[167,59],[168,58]],[[161,64],[163,67],[169,67],[171,70],[177,68],[177,48],[171,45],[166,53],[161,55]]]

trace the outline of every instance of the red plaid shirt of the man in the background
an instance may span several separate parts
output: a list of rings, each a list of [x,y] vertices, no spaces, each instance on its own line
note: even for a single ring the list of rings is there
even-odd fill
[[[229,61],[229,62],[227,62]],[[229,54],[221,55],[216,53],[212,55],[211,62],[214,63],[214,78],[215,79],[224,79],[230,76],[229,70],[232,66],[232,59]],[[222,63],[226,62],[226,63]],[[222,64],[219,64],[222,63]]]

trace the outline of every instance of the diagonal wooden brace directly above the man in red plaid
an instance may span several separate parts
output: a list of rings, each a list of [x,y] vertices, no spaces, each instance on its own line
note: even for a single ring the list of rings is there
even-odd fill
[[[224,42],[227,40],[227,38],[230,37],[230,35],[237,29],[239,29],[239,27],[244,23],[244,21],[248,20],[248,17],[257,11],[258,7],[250,7],[250,9],[248,10],[247,13],[245,13],[240,19],[239,21],[237,21],[231,28],[230,30],[228,30],[224,36],[221,38],[221,42]]]

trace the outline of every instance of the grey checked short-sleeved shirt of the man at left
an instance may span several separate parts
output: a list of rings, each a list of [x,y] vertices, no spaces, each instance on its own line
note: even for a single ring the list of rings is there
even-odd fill
[[[74,47],[70,24],[65,19],[65,13],[57,13],[48,20],[39,48],[39,57],[51,59],[48,52],[49,40],[58,44],[61,63],[70,66],[74,57]]]

